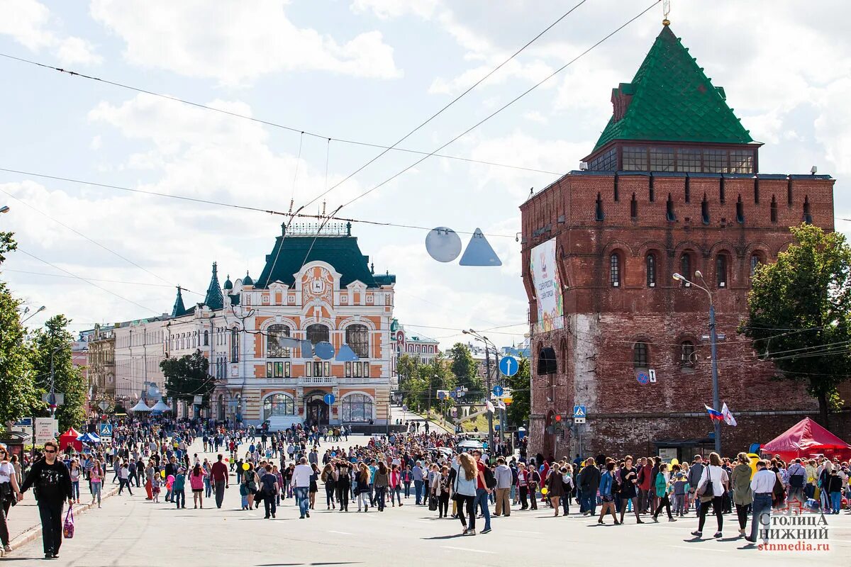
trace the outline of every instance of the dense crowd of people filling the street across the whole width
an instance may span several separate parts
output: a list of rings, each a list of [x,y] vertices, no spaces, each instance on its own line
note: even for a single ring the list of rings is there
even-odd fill
[[[111,443],[84,451],[69,447],[60,453],[49,442],[24,462],[0,447],[3,546],[9,551],[9,507],[35,486],[45,557],[58,556],[63,505],[81,502],[81,483],[89,485],[92,506],[100,507],[103,486],[111,483],[118,485],[118,495],[144,490],[147,501],[168,502],[175,509],[186,507],[187,485],[193,507],[203,509],[205,498],[222,507],[226,489],[234,484],[242,509],[262,505],[267,519],[276,518],[288,499],[300,519],[309,519],[321,490],[325,510],[384,513],[413,504],[428,507],[438,519],[459,520],[465,536],[477,534],[477,519],[483,521],[478,533],[487,534],[493,517],[546,508],[554,516],[596,517],[597,524],[610,516],[618,525],[629,518],[643,524],[694,514],[696,538],[703,537],[710,514],[717,524],[714,536],[721,537],[725,514],[735,513],[739,536],[756,542],[758,519],[773,509],[795,505],[839,513],[851,500],[848,463],[823,456],[790,463],[780,456],[754,462],[745,453],[731,459],[711,453],[683,463],[604,455],[577,455],[571,461],[528,456],[525,441],[517,450],[500,443],[489,454],[487,444],[468,441],[467,450],[463,435],[413,425],[404,432],[356,438],[361,443],[353,445],[350,434],[346,426],[297,424],[269,432],[161,420],[117,422]],[[200,455],[192,450],[197,440]],[[214,456],[206,456],[210,453]]]

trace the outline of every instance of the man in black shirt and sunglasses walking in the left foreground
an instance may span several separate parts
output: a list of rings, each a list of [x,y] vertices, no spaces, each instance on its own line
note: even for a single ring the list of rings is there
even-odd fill
[[[73,502],[71,474],[64,462],[56,459],[59,445],[50,440],[44,444],[44,458],[35,462],[26,475],[21,493],[36,485],[38,513],[42,519],[44,558],[59,557],[62,545],[62,505]]]

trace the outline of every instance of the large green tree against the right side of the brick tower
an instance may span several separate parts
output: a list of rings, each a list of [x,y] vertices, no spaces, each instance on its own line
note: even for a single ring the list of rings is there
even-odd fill
[[[775,264],[760,266],[740,332],[776,378],[806,385],[819,400],[820,420],[842,404],[837,387],[851,374],[851,247],[845,237],[802,224]]]

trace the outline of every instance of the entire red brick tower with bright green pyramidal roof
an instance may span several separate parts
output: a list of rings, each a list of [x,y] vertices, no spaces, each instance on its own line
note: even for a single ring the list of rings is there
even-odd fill
[[[770,381],[774,367],[757,360],[736,327],[747,312],[751,270],[788,246],[788,227],[833,230],[834,180],[758,173],[760,145],[668,26],[632,82],[613,89],[612,104],[585,168],[521,207],[533,336],[531,452],[574,456],[580,435],[583,456],[683,460],[711,450],[703,407],[712,404],[709,301],[671,278],[694,279],[698,269],[724,336],[721,400],[739,421],[722,426],[724,453],[768,441],[816,414],[817,404],[795,383]],[[533,257],[557,266],[561,290],[536,288]],[[551,310],[553,291],[562,293],[563,315]],[[637,374],[650,370],[656,381],[639,383]],[[558,427],[555,416],[569,423],[574,405],[587,407],[587,422]]]

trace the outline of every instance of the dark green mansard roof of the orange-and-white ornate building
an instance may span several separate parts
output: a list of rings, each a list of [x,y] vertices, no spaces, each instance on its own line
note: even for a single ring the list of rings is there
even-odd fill
[[[303,264],[322,261],[331,264],[340,273],[340,286],[352,281],[362,281],[367,287],[390,285],[395,275],[374,275],[369,269],[368,256],[357,246],[355,236],[278,236],[275,247],[266,255],[266,266],[254,287],[263,289],[273,281],[294,285],[294,274]]]

